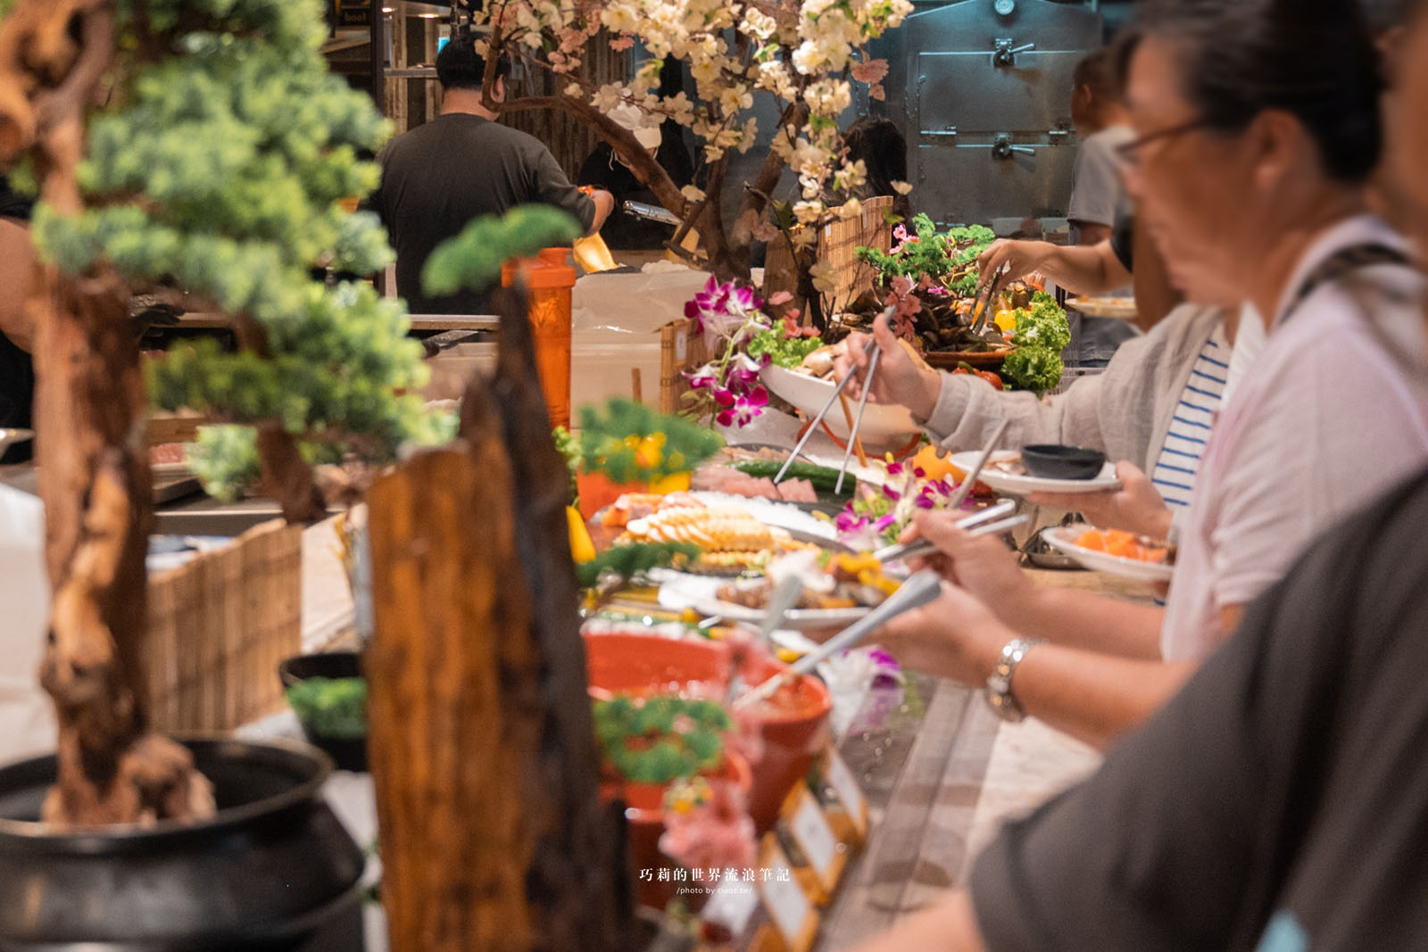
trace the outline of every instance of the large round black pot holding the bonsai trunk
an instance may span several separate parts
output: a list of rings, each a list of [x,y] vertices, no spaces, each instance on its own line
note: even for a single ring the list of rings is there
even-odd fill
[[[318,794],[331,764],[301,745],[186,741],[218,814],[49,834],[54,758],[0,769],[0,949],[351,952],[363,855]]]

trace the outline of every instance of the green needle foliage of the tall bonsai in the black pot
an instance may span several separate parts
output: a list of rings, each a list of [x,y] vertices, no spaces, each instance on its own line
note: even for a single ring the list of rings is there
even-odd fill
[[[390,124],[327,73],[321,3],[119,0],[117,13],[119,106],[89,121],[86,211],[41,203],[36,244],[69,274],[103,261],[134,287],[174,284],[263,328],[261,354],[198,344],[150,367],[157,407],[237,424],[206,428],[191,450],[210,491],[257,475],[244,424],[280,422],[314,461],[448,438],[454,421],[411,393],[426,368],[404,308],[311,277],[391,260],[376,216],[338,207],[377,184],[361,156]]]

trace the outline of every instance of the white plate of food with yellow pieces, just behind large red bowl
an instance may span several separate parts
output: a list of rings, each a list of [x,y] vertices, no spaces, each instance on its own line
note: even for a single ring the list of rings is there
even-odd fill
[[[881,564],[870,554],[828,554],[821,572],[805,574],[803,592],[784,615],[781,628],[843,628],[863,618],[897,591],[897,579],[883,574]],[[695,611],[724,621],[758,625],[764,621],[768,598],[774,592],[770,578],[744,579],[721,585],[713,597],[695,601]]]

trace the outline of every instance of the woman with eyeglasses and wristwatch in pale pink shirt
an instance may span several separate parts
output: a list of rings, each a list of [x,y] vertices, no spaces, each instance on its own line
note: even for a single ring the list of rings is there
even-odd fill
[[[1228,404],[1185,417],[1204,448],[1165,607],[1037,585],[998,541],[930,514],[918,531],[955,585],[884,629],[911,667],[1107,745],[1315,535],[1428,461],[1428,388],[1402,360],[1422,353],[1424,280],[1365,204],[1377,54],[1349,0],[1319,3],[1285,23],[1277,0],[1161,0],[1122,47],[1147,227],[1180,287],[1232,291],[1267,331]],[[1307,59],[1314,43],[1335,56]],[[992,681],[1008,661],[1015,679]]]

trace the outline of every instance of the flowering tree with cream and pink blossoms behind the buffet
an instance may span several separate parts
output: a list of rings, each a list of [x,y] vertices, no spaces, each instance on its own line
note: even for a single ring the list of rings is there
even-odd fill
[[[817,224],[831,214],[860,211],[855,200],[835,201],[835,208],[828,201],[833,194],[853,194],[865,177],[863,163],[848,163],[843,156],[837,117],[851,103],[850,80],[868,83],[870,94],[883,97],[880,83],[887,63],[868,59],[865,44],[912,11],[908,0],[498,0],[468,6],[480,7],[473,11],[473,29],[483,36],[477,50],[487,61],[487,107],[503,113],[558,108],[590,126],[660,203],[683,218],[671,247],[688,228],[697,228],[711,270],[723,280],[743,281],[750,274],[750,243],[777,234],[777,226],[763,221],[763,216],[784,168],[798,173],[800,198],[785,211],[797,221]],[[581,76],[585,44],[601,30],[617,50],[638,41],[650,53],[631,83],[597,88]],[[560,90],[496,103],[493,53],[555,77]],[[668,60],[690,69],[694,98],[684,91],[653,91]],[[730,154],[747,151],[755,141],[758,128],[748,110],[758,90],[774,97],[780,117],[767,158],[747,184],[734,220],[725,221],[721,208],[731,186]],[[651,126],[673,118],[703,140],[703,190],[677,188],[634,133],[608,118],[621,103],[638,107]],[[811,228],[803,234],[811,241]]]

